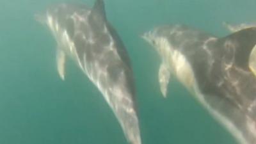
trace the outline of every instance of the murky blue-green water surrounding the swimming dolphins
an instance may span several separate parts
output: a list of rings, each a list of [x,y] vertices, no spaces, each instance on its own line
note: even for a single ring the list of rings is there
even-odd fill
[[[73,61],[66,80],[58,76],[56,43],[34,14],[60,2],[0,1],[0,143],[125,144],[111,109]],[[172,81],[168,98],[161,97],[159,58],[139,35],[170,23],[224,36],[223,21],[256,22],[255,7],[255,0],[106,0],[134,68],[143,143],[236,143],[179,83]]]

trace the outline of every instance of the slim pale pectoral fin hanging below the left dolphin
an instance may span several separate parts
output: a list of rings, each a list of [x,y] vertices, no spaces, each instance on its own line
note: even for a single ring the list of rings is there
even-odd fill
[[[65,79],[65,53],[57,48],[56,54],[57,68],[60,78],[64,81]]]

